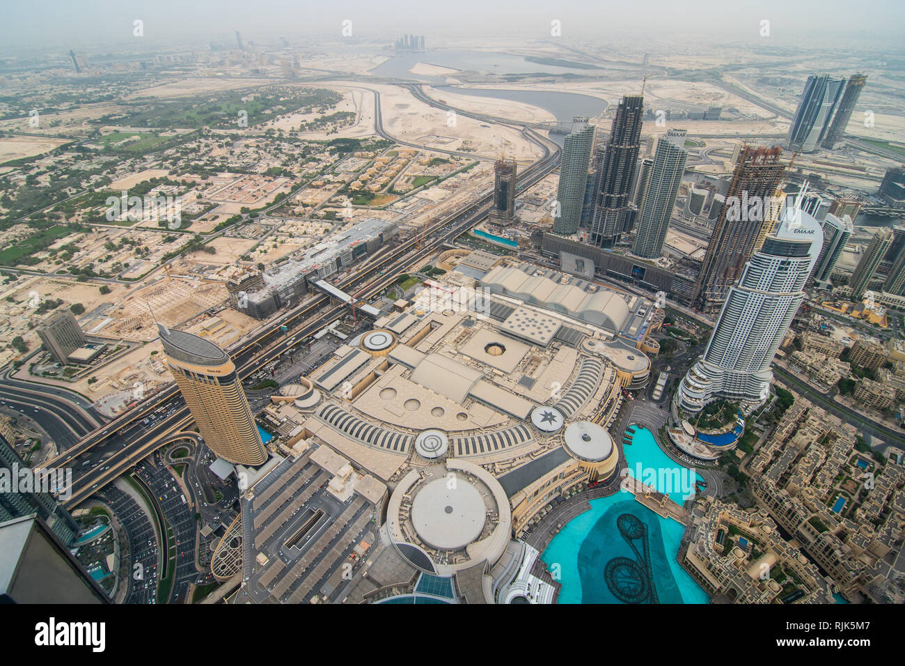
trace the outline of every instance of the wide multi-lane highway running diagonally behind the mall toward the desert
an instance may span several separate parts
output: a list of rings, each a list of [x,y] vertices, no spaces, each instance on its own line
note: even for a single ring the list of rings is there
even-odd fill
[[[420,86],[417,86],[420,91]],[[375,124],[377,133],[389,140],[395,140],[383,130],[382,111],[380,110],[379,93],[376,94]],[[422,93],[423,94],[423,93]],[[448,105],[425,98],[433,106],[452,110]],[[457,113],[458,110],[454,110]],[[462,111],[462,115],[470,115]],[[555,143],[543,138],[529,125],[505,119],[480,117],[481,120],[518,126],[522,134],[540,146],[543,157],[519,174],[520,188],[528,188],[539,179],[544,178],[556,169],[559,149]],[[419,235],[404,241],[386,251],[383,256],[368,262],[353,275],[339,281],[336,286],[367,300],[379,294],[387,287],[395,284],[395,278],[421,265],[424,257],[430,255],[462,235],[481,220],[490,207],[491,190],[482,194],[477,200],[450,217],[436,220],[428,227],[421,248],[418,248]],[[365,283],[362,288],[362,283]],[[262,324],[249,335],[243,337],[227,349],[233,357],[236,370],[241,380],[294,346],[302,344],[310,335],[336,321],[344,314],[346,305],[330,305],[326,295],[315,295],[310,300],[296,305],[286,312]],[[325,309],[326,308],[326,309]],[[281,326],[289,328],[288,333],[281,332]],[[147,421],[147,422],[146,422]],[[192,422],[185,401],[179,395],[176,385],[158,392],[140,403],[135,409],[106,426],[95,430],[77,442],[71,449],[54,458],[48,468],[73,468],[73,483],[64,500],[67,507],[74,507],[89,497],[100,487],[104,487],[114,478],[145,458],[154,450],[173,441],[180,430]],[[65,497],[65,496],[62,496]]]

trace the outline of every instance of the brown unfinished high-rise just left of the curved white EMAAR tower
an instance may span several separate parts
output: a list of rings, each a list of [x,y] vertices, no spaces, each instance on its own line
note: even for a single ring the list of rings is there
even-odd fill
[[[782,149],[744,145],[738,150],[726,201],[701,265],[695,300],[716,309],[764,237],[776,225],[776,190],[783,179]]]

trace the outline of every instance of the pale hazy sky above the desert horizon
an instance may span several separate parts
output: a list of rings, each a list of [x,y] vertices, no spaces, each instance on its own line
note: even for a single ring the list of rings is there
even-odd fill
[[[92,49],[138,45],[133,21],[144,21],[144,43],[195,37],[248,41],[277,36],[340,36],[352,21],[362,38],[425,34],[548,38],[550,21],[563,36],[614,41],[631,34],[646,40],[707,37],[715,42],[757,40],[760,22],[770,21],[776,43],[829,48],[852,40],[864,48],[905,43],[905,0],[0,0],[0,50],[34,47]],[[881,44],[882,43],[882,44]]]

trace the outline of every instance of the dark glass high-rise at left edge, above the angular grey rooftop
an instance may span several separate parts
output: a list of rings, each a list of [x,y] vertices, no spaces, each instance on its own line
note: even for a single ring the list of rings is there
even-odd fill
[[[30,484],[26,488],[17,483],[23,470],[28,466],[13,448],[13,442],[0,434],[0,468],[13,482],[8,490],[0,491],[0,523],[13,518],[36,514],[57,536],[62,545],[70,546],[79,532],[78,524],[72,519],[60,502],[51,495],[55,488],[42,487],[48,478],[39,478],[36,471],[30,472]],[[19,489],[17,489],[19,488]]]

